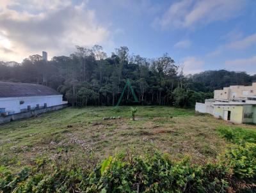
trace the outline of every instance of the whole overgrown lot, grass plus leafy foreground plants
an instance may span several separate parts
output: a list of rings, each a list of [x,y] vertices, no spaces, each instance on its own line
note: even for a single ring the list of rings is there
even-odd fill
[[[138,107],[132,121],[129,110],[67,108],[0,125],[0,189],[256,191],[255,127],[157,106]]]

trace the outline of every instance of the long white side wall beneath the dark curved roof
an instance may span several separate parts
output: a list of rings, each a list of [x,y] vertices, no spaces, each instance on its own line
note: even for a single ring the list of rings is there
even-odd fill
[[[20,104],[20,101],[24,101],[24,104]],[[0,108],[5,108],[5,111],[14,111],[19,113],[20,109],[27,109],[28,105],[31,108],[35,108],[37,104],[47,107],[52,107],[55,105],[61,105],[62,95],[49,95],[49,96],[24,96],[24,97],[7,97],[0,98]]]

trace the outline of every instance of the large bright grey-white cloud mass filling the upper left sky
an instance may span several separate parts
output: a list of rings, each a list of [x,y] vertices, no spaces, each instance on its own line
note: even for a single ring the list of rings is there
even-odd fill
[[[0,29],[0,60],[4,61],[21,61],[42,50],[58,56],[70,54],[75,45],[111,43],[108,27],[97,21],[84,1],[6,1]]]

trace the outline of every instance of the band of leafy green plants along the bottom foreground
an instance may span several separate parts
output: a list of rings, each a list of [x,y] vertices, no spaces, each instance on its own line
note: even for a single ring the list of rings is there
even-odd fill
[[[256,146],[246,143],[226,151],[215,163],[198,166],[188,157],[173,161],[159,152],[144,156],[119,153],[96,167],[82,169],[51,161],[11,174],[0,167],[3,192],[253,192]],[[86,160],[84,160],[85,164]],[[83,164],[82,164],[83,165]]]

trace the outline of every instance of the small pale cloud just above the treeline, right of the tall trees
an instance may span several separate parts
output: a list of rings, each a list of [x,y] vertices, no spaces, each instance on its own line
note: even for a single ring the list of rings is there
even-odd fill
[[[184,74],[194,74],[203,71],[204,61],[195,57],[187,57],[182,59],[182,65],[184,65]]]

